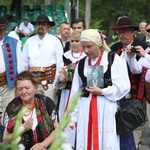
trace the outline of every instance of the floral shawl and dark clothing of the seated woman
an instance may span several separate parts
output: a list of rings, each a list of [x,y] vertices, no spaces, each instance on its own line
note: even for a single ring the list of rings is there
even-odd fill
[[[12,118],[15,117],[23,103],[20,97],[13,99],[7,106],[4,115],[4,124],[9,133],[13,132],[15,123]],[[42,142],[53,131],[54,120],[58,117],[54,102],[43,95],[35,95],[35,105],[29,115],[24,115],[22,123],[29,117],[33,118],[32,128],[21,136],[21,143],[25,146],[25,150],[29,150],[34,144]]]

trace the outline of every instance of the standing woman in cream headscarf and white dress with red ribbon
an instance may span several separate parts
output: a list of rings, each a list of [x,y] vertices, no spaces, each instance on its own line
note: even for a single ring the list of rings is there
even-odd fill
[[[78,62],[70,95],[84,91],[70,114],[77,122],[76,150],[120,150],[115,113],[117,100],[130,90],[127,69],[117,54],[109,65],[110,49],[99,30],[82,31],[80,41],[87,57]],[[103,66],[104,88],[86,86],[89,66]]]

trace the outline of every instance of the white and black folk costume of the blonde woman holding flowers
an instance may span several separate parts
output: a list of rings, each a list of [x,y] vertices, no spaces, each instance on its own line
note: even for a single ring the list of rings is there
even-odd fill
[[[67,65],[76,65],[77,62],[85,57],[84,52],[74,53],[72,50],[67,51],[63,54],[63,57],[65,58],[64,64]],[[73,72],[72,72],[73,73]],[[72,74],[73,76],[73,74]],[[64,115],[65,110],[67,109],[68,103],[69,103],[69,96],[70,91],[72,88],[72,81],[67,81],[66,83],[63,83],[64,85],[60,86],[61,90],[61,96],[60,96],[60,103],[59,103],[59,119],[60,122],[62,120],[62,117]],[[64,130],[65,133],[68,135],[68,139],[66,140],[67,143],[70,143],[72,147],[74,147],[75,144],[75,131],[76,128],[67,126]]]

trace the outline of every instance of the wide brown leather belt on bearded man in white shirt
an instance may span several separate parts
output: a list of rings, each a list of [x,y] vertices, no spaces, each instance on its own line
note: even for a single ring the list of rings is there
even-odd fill
[[[48,67],[30,67],[29,70],[35,74],[38,83],[43,86],[43,89],[47,90],[47,84],[53,84],[56,73],[55,64]]]

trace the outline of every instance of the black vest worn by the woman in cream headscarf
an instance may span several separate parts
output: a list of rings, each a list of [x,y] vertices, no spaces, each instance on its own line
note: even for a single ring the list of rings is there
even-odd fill
[[[115,52],[109,52],[108,53],[108,68],[107,68],[106,72],[104,73],[104,88],[106,88],[109,85],[112,85],[111,65],[113,64],[115,54],[116,54]],[[89,92],[85,90],[85,87],[86,87],[86,84],[87,84],[87,78],[83,74],[85,58],[86,57],[84,57],[83,59],[81,59],[79,61],[78,72],[79,72],[79,76],[81,77],[83,87],[84,87],[82,96],[83,97],[88,97]]]

